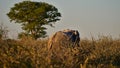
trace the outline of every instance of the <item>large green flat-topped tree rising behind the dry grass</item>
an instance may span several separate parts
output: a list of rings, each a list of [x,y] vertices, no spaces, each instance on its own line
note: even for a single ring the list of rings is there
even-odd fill
[[[44,25],[53,26],[61,17],[61,13],[55,6],[32,1],[16,3],[7,15],[10,21],[21,24],[24,32],[19,36],[24,34],[35,39],[46,37],[47,28]]]

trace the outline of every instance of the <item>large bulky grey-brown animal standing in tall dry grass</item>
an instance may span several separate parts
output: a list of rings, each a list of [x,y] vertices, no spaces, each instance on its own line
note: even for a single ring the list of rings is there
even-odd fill
[[[60,43],[71,43],[73,46],[79,46],[80,37],[77,30],[65,29],[53,34],[48,40],[48,50]]]

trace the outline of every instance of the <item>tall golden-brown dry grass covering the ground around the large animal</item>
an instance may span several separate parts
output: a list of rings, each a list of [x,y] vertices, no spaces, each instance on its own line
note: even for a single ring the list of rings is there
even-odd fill
[[[0,68],[119,68],[120,38],[81,39],[80,47],[66,48],[57,58],[48,56],[47,40],[0,39]]]

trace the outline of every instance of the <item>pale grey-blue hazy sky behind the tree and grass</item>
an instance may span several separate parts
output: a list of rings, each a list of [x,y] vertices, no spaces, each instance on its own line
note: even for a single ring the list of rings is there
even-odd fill
[[[10,22],[6,13],[15,3],[23,0],[0,0],[0,23],[7,26],[9,37],[16,38],[21,26]],[[31,0],[54,5],[61,13],[55,28],[46,26],[48,36],[64,30],[78,30],[81,38],[111,35],[120,37],[120,0]]]

